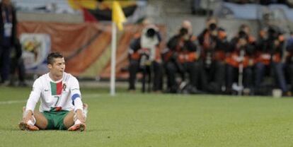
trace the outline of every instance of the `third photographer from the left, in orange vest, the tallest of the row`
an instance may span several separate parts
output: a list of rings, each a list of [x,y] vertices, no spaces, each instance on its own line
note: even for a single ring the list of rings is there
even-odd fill
[[[225,58],[229,43],[226,32],[216,18],[207,19],[207,28],[200,33],[202,88],[209,93],[222,93],[225,81]]]

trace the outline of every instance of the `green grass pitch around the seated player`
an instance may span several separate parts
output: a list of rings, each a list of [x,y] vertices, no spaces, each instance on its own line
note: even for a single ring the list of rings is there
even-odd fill
[[[293,98],[81,88],[87,130],[21,131],[30,88],[0,88],[0,146],[292,146]]]

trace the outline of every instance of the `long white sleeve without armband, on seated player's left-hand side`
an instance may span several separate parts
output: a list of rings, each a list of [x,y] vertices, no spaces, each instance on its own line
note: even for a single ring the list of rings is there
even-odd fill
[[[25,110],[35,110],[35,105],[37,105],[37,102],[40,99],[40,94],[41,94],[41,84],[40,84],[40,78],[38,78],[34,83],[33,83],[33,89],[30,92],[30,97],[28,98],[28,102],[26,103]]]

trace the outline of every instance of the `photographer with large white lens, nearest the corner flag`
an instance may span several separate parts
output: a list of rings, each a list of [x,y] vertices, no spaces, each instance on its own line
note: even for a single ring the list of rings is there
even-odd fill
[[[154,25],[147,25],[141,35],[132,40],[128,52],[130,61],[128,90],[135,90],[135,81],[139,71],[143,71],[143,76],[146,76],[146,72],[149,74],[149,81],[153,81],[152,90],[157,92],[162,90],[160,42],[161,35]]]

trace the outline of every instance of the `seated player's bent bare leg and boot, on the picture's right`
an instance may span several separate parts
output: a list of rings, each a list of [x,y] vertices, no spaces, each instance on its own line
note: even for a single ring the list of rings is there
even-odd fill
[[[83,110],[76,110],[76,112],[69,112],[64,118],[64,124],[71,124],[69,131],[84,131],[86,129],[86,114],[88,112],[88,105],[84,104]],[[68,122],[65,122],[68,121]],[[72,123],[72,121],[74,123]]]

